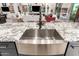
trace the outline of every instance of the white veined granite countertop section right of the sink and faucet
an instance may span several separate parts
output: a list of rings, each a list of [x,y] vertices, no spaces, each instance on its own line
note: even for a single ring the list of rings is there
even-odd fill
[[[46,28],[55,28],[65,41],[79,41],[79,24],[74,22],[47,23]]]

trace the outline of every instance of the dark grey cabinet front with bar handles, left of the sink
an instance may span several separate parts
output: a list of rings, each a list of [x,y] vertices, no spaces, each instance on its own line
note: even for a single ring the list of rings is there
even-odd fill
[[[18,55],[14,42],[0,42],[1,56],[16,56]]]

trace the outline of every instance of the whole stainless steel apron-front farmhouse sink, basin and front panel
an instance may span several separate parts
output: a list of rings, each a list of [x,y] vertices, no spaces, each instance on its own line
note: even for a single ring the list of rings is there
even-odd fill
[[[34,44],[33,41],[37,43]],[[55,41],[60,43],[55,43]],[[16,45],[20,54],[60,55],[64,54],[67,42],[64,42],[55,29],[29,29],[24,32]]]

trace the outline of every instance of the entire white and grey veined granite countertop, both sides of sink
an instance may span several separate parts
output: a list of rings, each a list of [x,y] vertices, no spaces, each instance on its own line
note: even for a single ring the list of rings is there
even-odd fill
[[[55,22],[45,23],[42,29],[56,29],[65,41],[79,41],[78,23]],[[26,29],[38,29],[35,22],[0,24],[0,41],[17,41]]]

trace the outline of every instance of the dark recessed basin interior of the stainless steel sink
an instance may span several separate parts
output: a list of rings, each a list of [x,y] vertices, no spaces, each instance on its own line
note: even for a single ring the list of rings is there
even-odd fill
[[[46,37],[48,37],[49,40],[63,40],[55,29],[28,29],[24,32],[20,40],[33,40],[35,37],[37,37],[37,40],[46,40]]]

